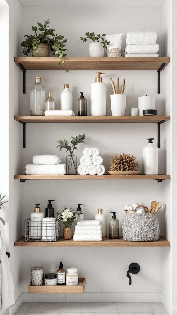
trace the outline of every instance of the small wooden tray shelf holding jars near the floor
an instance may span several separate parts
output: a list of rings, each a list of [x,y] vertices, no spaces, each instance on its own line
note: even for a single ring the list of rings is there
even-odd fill
[[[31,285],[28,284],[28,293],[84,293],[85,290],[85,278],[79,278],[79,285]]]

